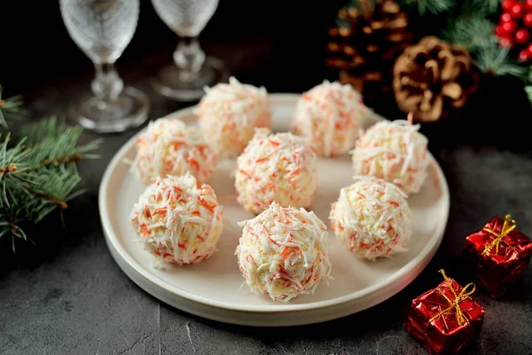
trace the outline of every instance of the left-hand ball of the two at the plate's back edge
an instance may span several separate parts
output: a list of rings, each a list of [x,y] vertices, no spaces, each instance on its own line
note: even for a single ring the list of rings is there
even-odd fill
[[[256,127],[270,128],[270,101],[266,89],[242,84],[234,77],[206,89],[196,114],[200,129],[216,154],[238,156]]]

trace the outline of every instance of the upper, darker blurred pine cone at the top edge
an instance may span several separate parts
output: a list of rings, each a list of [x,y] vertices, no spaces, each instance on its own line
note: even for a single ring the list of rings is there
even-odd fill
[[[329,30],[325,66],[338,69],[340,83],[351,84],[372,106],[391,91],[395,59],[411,44],[406,13],[394,0],[355,0],[338,18]]]

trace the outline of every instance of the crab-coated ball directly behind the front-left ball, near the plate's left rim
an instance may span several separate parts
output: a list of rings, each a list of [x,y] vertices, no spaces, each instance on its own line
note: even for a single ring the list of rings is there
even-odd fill
[[[187,171],[204,183],[217,161],[200,130],[180,120],[157,120],[138,136],[137,156],[131,169],[145,185],[158,177],[181,176]]]

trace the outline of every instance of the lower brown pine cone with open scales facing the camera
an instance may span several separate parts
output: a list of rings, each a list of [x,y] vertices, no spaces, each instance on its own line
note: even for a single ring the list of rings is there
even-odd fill
[[[476,89],[469,51],[427,36],[395,61],[394,91],[399,107],[419,122],[455,113]]]

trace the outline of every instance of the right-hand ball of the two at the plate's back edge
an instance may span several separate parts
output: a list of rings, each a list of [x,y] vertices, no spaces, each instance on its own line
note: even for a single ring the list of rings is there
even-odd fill
[[[325,81],[301,95],[292,130],[312,142],[322,156],[345,154],[355,146],[367,111],[350,85]]]

